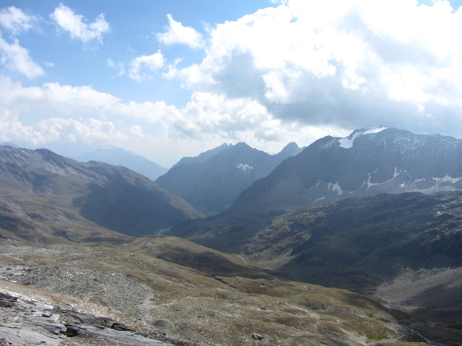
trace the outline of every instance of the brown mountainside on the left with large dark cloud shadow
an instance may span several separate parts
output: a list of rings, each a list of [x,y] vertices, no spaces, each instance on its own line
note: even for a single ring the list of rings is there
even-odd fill
[[[153,234],[203,216],[125,167],[84,164],[47,149],[0,147],[0,196],[0,230],[29,241],[95,236],[102,228]]]

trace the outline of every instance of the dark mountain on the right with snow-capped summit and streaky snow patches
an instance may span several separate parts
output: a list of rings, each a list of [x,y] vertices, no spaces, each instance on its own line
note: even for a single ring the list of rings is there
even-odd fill
[[[296,210],[375,193],[462,189],[462,140],[382,126],[326,136],[235,201],[240,211]]]

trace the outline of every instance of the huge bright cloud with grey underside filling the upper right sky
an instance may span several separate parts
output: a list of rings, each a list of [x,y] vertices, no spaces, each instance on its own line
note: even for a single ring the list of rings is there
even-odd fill
[[[462,115],[462,10],[447,1],[280,3],[211,28],[202,62],[170,64],[164,77],[256,102],[287,124],[457,135],[442,124]]]

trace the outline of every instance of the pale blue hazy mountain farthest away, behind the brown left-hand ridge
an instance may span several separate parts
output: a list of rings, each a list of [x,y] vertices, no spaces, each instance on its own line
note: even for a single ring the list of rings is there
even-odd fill
[[[122,148],[97,149],[76,156],[75,159],[81,162],[101,161],[110,165],[127,167],[151,180],[156,180],[168,171],[168,168],[159,166],[156,162]]]

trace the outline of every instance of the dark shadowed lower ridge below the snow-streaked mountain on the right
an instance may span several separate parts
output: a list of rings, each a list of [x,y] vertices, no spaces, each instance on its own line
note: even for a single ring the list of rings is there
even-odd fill
[[[401,270],[462,266],[462,192],[377,194],[293,213],[227,213],[168,234],[237,253],[287,279],[356,292]]]

